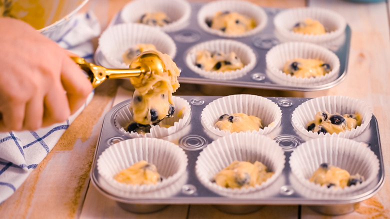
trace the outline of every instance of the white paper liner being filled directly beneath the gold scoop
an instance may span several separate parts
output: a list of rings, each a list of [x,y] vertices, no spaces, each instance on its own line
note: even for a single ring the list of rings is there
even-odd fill
[[[130,110],[130,103],[124,105],[114,117],[115,127],[124,135],[130,137],[163,137],[173,134],[181,130],[188,124],[191,114],[191,106],[188,101],[178,97],[172,96],[175,105],[175,110],[172,117],[165,117],[158,125],[152,125],[149,133],[139,134],[137,132],[128,132],[124,128],[133,121],[132,111]],[[161,125],[161,126],[160,126]],[[168,127],[164,127],[164,126]]]

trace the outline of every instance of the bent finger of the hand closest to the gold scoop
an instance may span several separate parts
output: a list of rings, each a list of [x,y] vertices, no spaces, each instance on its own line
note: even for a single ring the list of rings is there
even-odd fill
[[[63,59],[61,82],[66,90],[70,113],[74,113],[92,91],[92,84],[80,67],[68,57]]]

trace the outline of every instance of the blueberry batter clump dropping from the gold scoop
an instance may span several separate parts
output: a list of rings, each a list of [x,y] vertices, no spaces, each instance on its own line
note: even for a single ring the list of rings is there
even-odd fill
[[[149,50],[158,54],[163,62],[163,71],[149,71],[136,77],[130,77],[130,82],[135,91],[130,102],[130,110],[133,112],[133,119],[140,124],[156,124],[165,116],[172,116],[174,103],[172,93],[179,87],[177,80],[180,71],[168,54],[157,50]],[[132,59],[130,68],[137,68],[141,65],[153,65],[154,63],[140,62],[136,57]]]

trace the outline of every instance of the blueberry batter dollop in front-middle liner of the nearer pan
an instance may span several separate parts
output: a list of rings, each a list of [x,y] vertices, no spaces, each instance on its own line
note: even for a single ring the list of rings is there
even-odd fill
[[[266,181],[273,175],[267,172],[267,167],[259,161],[253,164],[234,160],[230,165],[215,174],[213,181],[226,188],[241,188],[255,186]]]

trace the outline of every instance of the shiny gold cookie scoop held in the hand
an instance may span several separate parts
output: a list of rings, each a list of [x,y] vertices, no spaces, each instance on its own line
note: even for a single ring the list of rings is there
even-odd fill
[[[95,88],[101,84],[105,79],[125,78],[139,76],[142,73],[149,71],[164,71],[164,64],[159,55],[154,51],[143,52],[135,57],[135,61],[141,63],[137,68],[114,69],[105,68],[100,65],[89,63],[84,58],[71,56],[71,59],[80,66],[88,74],[88,79]]]

